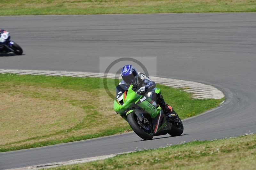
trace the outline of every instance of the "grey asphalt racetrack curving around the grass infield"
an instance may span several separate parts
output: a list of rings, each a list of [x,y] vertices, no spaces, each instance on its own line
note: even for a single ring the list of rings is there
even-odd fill
[[[219,108],[185,120],[182,136],[143,141],[126,133],[5,152],[0,169],[256,132],[256,13],[6,16],[0,23],[25,52],[0,56],[0,69],[99,72],[102,56],[156,56],[157,76],[226,95]]]

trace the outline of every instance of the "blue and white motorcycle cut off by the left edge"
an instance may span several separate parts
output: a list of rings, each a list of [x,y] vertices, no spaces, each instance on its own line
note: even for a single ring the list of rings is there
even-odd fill
[[[0,34],[0,53],[9,53],[13,52],[17,55],[21,55],[23,53],[22,48],[15,43],[14,41],[10,40],[11,36],[10,33],[1,30]]]

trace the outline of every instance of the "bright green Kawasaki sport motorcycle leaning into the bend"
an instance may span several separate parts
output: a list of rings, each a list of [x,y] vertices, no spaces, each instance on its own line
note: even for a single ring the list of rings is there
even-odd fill
[[[160,93],[160,89],[155,89]],[[172,112],[166,118],[162,108],[145,93],[132,90],[132,85],[118,85],[114,100],[114,110],[128,121],[132,130],[144,140],[154,136],[179,136],[183,133],[183,124],[176,114]]]

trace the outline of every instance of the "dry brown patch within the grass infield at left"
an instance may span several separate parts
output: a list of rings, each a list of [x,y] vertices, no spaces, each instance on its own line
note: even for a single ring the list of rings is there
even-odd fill
[[[84,109],[64,100],[51,100],[51,96],[50,99],[42,99],[27,94],[28,90],[33,94],[42,91],[52,93],[53,89],[19,88],[0,93],[0,144],[71,128],[85,116]],[[60,91],[55,94],[65,95],[65,90]]]

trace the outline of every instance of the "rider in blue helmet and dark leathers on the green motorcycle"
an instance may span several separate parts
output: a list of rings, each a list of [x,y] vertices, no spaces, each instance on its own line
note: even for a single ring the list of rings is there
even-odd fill
[[[155,93],[156,83],[151,81],[144,73],[138,73],[132,65],[125,65],[121,71],[122,81],[119,84],[133,85],[133,90],[145,92],[152,99],[156,96],[156,103],[164,110],[167,116],[171,113],[172,107],[164,102],[163,96],[160,93]]]

